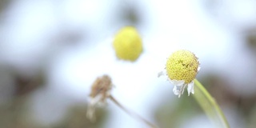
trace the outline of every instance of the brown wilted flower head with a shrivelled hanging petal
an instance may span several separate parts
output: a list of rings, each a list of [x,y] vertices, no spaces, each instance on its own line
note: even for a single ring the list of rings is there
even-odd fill
[[[103,75],[94,81],[90,90],[90,102],[87,110],[87,118],[90,118],[92,121],[95,120],[95,106],[106,103],[106,98],[110,96],[112,86],[111,78],[108,75]]]

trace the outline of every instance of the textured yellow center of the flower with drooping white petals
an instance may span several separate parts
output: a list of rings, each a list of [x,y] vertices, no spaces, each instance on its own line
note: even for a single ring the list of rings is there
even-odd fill
[[[184,80],[190,83],[198,74],[198,58],[189,50],[178,50],[166,62],[166,72],[171,80]]]

